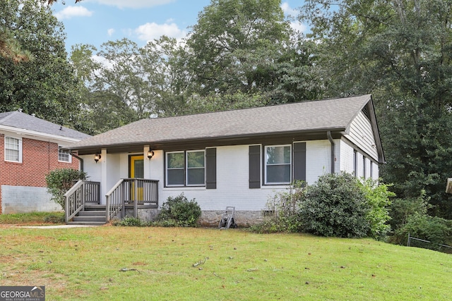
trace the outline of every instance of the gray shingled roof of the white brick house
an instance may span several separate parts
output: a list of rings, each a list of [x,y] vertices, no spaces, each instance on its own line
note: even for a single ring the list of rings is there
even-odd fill
[[[314,130],[345,130],[371,96],[326,99],[251,109],[147,118],[81,140],[71,149],[209,140]]]

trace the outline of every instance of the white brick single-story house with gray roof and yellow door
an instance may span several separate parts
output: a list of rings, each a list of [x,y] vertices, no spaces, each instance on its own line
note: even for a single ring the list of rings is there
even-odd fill
[[[376,179],[384,161],[370,95],[148,118],[69,149],[100,182],[107,219],[152,219],[183,192],[212,225],[227,206],[239,224],[260,219],[268,197],[293,180],[311,184],[339,171]]]

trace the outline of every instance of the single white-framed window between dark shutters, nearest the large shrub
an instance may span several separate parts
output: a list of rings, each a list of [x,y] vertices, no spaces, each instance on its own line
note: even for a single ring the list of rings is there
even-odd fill
[[[290,145],[266,147],[266,184],[289,184],[292,174],[292,148]]]

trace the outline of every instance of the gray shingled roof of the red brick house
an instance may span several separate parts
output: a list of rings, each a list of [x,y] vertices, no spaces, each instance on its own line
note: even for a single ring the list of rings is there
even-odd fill
[[[65,128],[64,126],[44,121],[44,119],[37,118],[20,111],[0,113],[0,125],[79,140],[92,137],[78,132],[77,130],[72,130],[71,128]]]

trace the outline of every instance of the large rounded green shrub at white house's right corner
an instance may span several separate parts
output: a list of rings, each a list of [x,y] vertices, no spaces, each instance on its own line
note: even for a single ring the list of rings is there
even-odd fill
[[[362,184],[343,172],[323,175],[308,186],[299,214],[308,233],[360,238],[369,233],[369,211]]]

